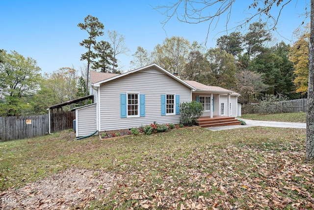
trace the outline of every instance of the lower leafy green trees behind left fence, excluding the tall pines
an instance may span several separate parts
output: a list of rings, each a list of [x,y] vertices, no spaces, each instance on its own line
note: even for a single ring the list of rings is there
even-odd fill
[[[0,59],[1,117],[46,114],[53,104],[85,95],[85,80],[73,67],[40,74],[36,60],[16,51],[2,50]]]

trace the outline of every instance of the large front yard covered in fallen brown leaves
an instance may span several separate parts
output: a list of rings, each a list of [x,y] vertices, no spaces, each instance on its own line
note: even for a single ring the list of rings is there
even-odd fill
[[[313,209],[304,129],[198,127],[73,141],[65,131],[0,143],[12,209]]]

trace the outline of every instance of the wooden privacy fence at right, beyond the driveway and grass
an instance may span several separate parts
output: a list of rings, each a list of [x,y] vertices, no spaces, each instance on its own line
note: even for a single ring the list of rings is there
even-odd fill
[[[268,106],[273,106],[273,109],[276,110],[276,107],[280,106],[281,112],[306,112],[307,99],[294,99],[289,101],[280,101]],[[242,114],[259,114],[265,113],[264,107],[261,107],[259,104],[245,104],[242,105]]]

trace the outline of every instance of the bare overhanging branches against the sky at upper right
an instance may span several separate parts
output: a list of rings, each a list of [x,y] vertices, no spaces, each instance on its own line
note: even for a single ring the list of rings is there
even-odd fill
[[[222,15],[226,15],[226,25],[225,30],[221,32],[228,33],[228,30],[241,30],[252,21],[265,22],[268,30],[277,31],[276,26],[282,10],[290,2],[292,0],[253,0],[253,3],[245,5],[242,1],[243,11],[250,11],[250,13],[247,13],[247,17],[244,20],[241,20],[231,28],[229,28],[229,25],[235,0],[178,0],[175,3],[154,7],[154,9],[165,15],[165,20],[161,22],[163,27],[172,18],[177,18],[178,21],[189,24],[209,22],[205,41],[207,43],[210,29],[217,27]],[[305,2],[307,4],[307,0]],[[297,1],[295,4],[297,4]],[[279,10],[272,10],[273,7],[278,7]],[[304,10],[304,19],[306,19],[310,12],[307,10],[307,6]]]

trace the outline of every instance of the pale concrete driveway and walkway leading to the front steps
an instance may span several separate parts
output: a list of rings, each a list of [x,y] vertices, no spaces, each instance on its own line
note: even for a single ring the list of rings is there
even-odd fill
[[[253,127],[253,126],[290,127],[290,128],[304,128],[304,129],[306,129],[306,123],[300,123],[300,122],[247,120],[247,119],[242,119],[242,118],[236,118],[236,119],[245,121],[246,125],[228,125],[228,126],[208,127],[207,129],[209,129],[211,131],[218,131],[218,130],[227,130],[227,129],[234,129],[234,128]]]

